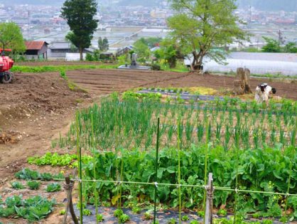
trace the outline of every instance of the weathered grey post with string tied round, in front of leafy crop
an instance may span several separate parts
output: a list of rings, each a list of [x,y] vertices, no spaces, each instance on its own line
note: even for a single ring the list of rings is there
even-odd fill
[[[212,173],[208,174],[208,183],[206,186],[206,205],[205,205],[205,218],[204,224],[212,224],[212,198],[213,198],[213,186],[212,186]]]

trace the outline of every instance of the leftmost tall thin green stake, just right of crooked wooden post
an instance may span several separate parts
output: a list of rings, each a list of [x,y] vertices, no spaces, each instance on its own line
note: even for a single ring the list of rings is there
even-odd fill
[[[82,179],[82,149],[80,148],[80,126],[79,126],[79,114],[76,112],[76,147],[77,147],[77,156],[78,156],[78,169],[79,169],[79,178]],[[80,223],[82,223],[82,181],[78,184],[78,191],[80,193]]]

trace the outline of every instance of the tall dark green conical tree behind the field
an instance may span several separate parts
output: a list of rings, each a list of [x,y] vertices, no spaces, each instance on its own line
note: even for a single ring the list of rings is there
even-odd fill
[[[93,33],[98,25],[98,21],[94,18],[97,14],[97,1],[66,0],[61,14],[70,26],[67,38],[80,50],[80,60],[82,60],[82,52],[91,46]]]

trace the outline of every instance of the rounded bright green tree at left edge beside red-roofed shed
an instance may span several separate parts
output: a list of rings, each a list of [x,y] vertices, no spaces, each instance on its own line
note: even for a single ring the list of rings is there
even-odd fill
[[[23,53],[26,50],[21,29],[16,23],[0,23],[0,48],[11,48],[13,54]]]

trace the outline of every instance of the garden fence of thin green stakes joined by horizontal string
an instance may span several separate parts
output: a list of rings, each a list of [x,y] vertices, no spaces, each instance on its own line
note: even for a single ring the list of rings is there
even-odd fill
[[[119,172],[121,172],[121,177],[118,178],[118,180],[101,180],[99,179],[100,177],[97,176],[96,173],[96,169],[93,169],[93,178],[92,179],[87,179],[84,178],[83,173],[82,173],[82,148],[80,146],[80,135],[79,135],[79,128],[78,127],[78,117],[76,117],[77,120],[77,155],[78,155],[78,176],[77,178],[72,178],[72,181],[77,182],[78,183],[78,196],[79,196],[79,207],[80,207],[80,223],[83,223],[83,185],[82,183],[114,183],[115,186],[122,186],[124,184],[127,185],[144,185],[144,186],[154,186],[154,200],[153,200],[153,223],[157,223],[156,222],[156,208],[157,208],[157,191],[158,191],[158,187],[161,186],[171,186],[171,187],[175,187],[178,189],[178,210],[179,210],[179,223],[181,223],[181,213],[182,213],[182,202],[181,202],[181,188],[200,188],[204,191],[204,196],[203,196],[203,210],[207,210],[207,206],[206,206],[206,201],[207,201],[207,192],[209,190],[209,186],[207,185],[207,176],[209,174],[209,172],[211,172],[210,170],[207,170],[207,151],[208,148],[210,147],[210,144],[207,144],[207,150],[205,150],[205,170],[204,170],[204,179],[202,181],[204,181],[204,184],[202,185],[195,185],[195,184],[185,184],[185,183],[181,183],[181,178],[180,178],[180,139],[177,139],[177,150],[178,150],[178,183],[161,183],[162,181],[158,180],[158,170],[159,170],[159,158],[158,158],[158,152],[159,152],[159,141],[160,141],[160,118],[158,118],[158,122],[157,122],[157,134],[156,134],[156,158],[155,158],[155,174],[154,174],[154,181],[152,182],[141,182],[141,181],[124,181],[124,177],[122,175],[123,172],[123,168],[122,168],[122,163],[121,163],[121,169]],[[180,121],[178,121],[180,122]],[[179,130],[178,130],[179,132]],[[180,134],[178,133],[177,135],[178,137],[180,136]],[[208,139],[206,137],[206,139]],[[295,147],[295,145],[293,145]],[[237,145],[237,149],[239,149],[239,145]],[[294,149],[294,151],[296,150],[296,147]],[[287,191],[286,192],[273,192],[273,191],[253,191],[253,190],[246,190],[246,189],[242,189],[239,188],[239,183],[238,183],[238,176],[239,176],[239,158],[238,158],[238,153],[237,153],[237,168],[236,168],[236,176],[235,176],[235,188],[230,188],[230,187],[222,187],[222,186],[213,186],[213,191],[229,191],[229,192],[234,192],[234,223],[236,223],[236,219],[237,219],[237,206],[238,206],[238,195],[240,193],[260,193],[260,194],[266,194],[266,195],[270,195],[270,196],[283,196],[284,199],[286,200],[286,205],[284,207],[284,216],[286,217],[287,215],[287,210],[288,210],[288,198],[289,197],[297,197],[296,193],[290,193],[290,186],[291,186],[291,177],[293,174],[293,162],[291,162],[290,167],[288,167],[288,179],[286,180],[286,182],[288,183],[287,185]],[[55,181],[64,181],[64,179],[60,179],[60,178],[55,178]],[[212,196],[213,196],[214,192],[211,192]],[[120,197],[117,199],[117,206],[118,208],[121,208],[121,190],[119,192]],[[95,207],[96,207],[96,217],[98,215],[98,193],[97,193],[97,188],[94,185],[94,195],[95,195]],[[210,214],[212,216],[212,214]],[[212,219],[207,220],[205,218],[204,223],[211,223]],[[96,221],[96,223],[98,223],[98,220]]]

